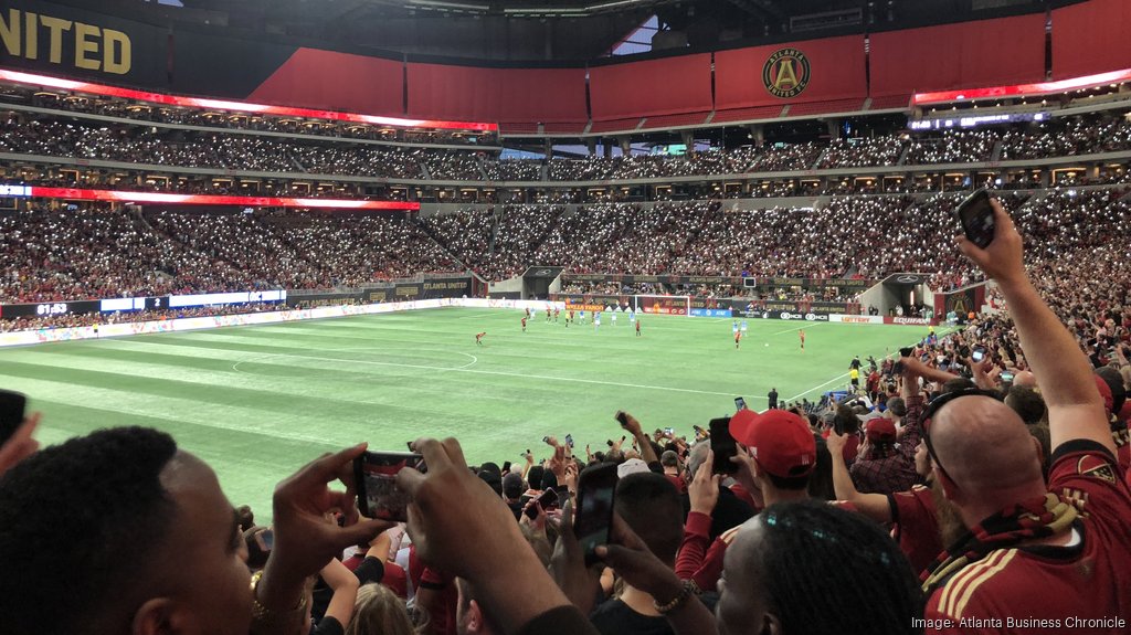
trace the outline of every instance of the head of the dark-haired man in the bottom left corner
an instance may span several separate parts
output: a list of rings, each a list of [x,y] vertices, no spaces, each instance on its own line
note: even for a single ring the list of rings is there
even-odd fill
[[[6,635],[242,635],[251,619],[244,558],[216,475],[157,430],[74,438],[0,479]]]

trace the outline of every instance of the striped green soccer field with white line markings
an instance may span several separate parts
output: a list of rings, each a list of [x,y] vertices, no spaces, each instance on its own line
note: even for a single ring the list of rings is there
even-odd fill
[[[44,444],[118,425],[173,434],[265,521],[280,478],[361,441],[404,450],[456,436],[469,462],[502,463],[526,449],[546,455],[544,435],[602,449],[621,434],[618,409],[690,436],[733,412],[735,397],[756,409],[771,386],[783,400],[818,399],[847,384],[853,355],[879,358],[926,334],[751,320],[735,350],[726,319],[646,315],[638,338],[623,315],[596,330],[542,314],[525,333],[520,318],[439,308],[15,348],[0,350],[0,388],[43,412]]]

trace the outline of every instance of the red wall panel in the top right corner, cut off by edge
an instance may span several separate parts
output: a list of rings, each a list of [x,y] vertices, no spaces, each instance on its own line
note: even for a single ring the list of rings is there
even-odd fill
[[[1131,2],[1091,0],[1053,11],[1053,79],[1131,68]]]

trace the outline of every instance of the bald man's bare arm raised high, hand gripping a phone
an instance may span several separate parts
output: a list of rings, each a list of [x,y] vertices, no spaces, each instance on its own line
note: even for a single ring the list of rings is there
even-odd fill
[[[1091,379],[1091,365],[1026,276],[1021,235],[1013,220],[996,200],[992,205],[996,228],[986,249],[979,249],[965,236],[956,240],[961,252],[993,278],[1005,296],[1025,358],[1048,407],[1053,451],[1065,442],[1082,438],[1115,454],[1104,405]]]

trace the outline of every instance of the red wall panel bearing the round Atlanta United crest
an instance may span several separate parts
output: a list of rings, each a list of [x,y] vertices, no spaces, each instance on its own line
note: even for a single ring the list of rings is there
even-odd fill
[[[796,49],[809,61],[809,84],[795,97],[769,92],[762,72],[774,53]],[[715,107],[745,108],[867,97],[864,36],[848,35],[715,53]]]

